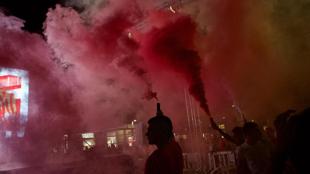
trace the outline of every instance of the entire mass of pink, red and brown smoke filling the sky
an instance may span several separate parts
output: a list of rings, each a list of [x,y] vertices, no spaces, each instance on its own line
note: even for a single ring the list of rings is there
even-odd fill
[[[65,2],[48,9],[42,35],[0,9],[0,67],[29,72],[28,122],[23,138],[8,140],[17,149],[10,162],[43,163],[64,135],[74,144],[78,133],[147,126],[158,98],[173,131],[185,134],[184,87],[201,118],[212,111],[227,130],[242,126],[232,104],[260,126],[309,107],[301,2],[186,1],[184,13],[157,9],[163,1]]]

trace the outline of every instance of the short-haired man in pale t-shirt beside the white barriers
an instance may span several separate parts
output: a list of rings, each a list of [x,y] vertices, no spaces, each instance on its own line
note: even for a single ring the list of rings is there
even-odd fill
[[[244,124],[243,132],[246,142],[237,148],[237,173],[243,173],[242,165],[247,165],[252,174],[262,173],[274,146],[268,139],[262,138],[256,123]]]

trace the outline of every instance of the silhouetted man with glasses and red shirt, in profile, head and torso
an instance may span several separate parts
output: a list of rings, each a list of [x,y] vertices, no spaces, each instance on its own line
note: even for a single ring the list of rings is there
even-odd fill
[[[182,174],[183,155],[179,144],[172,140],[170,118],[159,115],[148,120],[148,143],[155,150],[146,160],[144,174]]]

